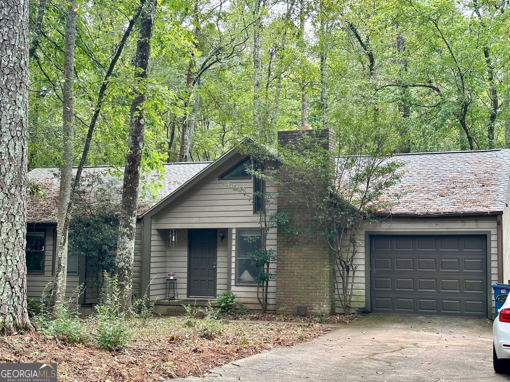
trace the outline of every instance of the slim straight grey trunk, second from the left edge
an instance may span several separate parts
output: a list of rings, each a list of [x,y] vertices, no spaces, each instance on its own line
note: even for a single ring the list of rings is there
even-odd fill
[[[71,196],[72,182],[72,161],[73,161],[73,102],[72,102],[72,81],[74,69],[74,40],[76,35],[77,3],[72,1],[67,7],[67,20],[65,28],[64,47],[64,87],[62,90],[63,101],[63,140],[64,154],[62,156],[62,167],[60,168],[60,190],[59,206],[57,213],[57,242],[55,243],[57,253],[55,256],[55,282],[53,284],[52,296],[49,300],[49,309],[52,313],[65,301],[65,288],[67,282],[67,235],[64,231],[65,215]],[[62,238],[65,237],[64,240]]]

